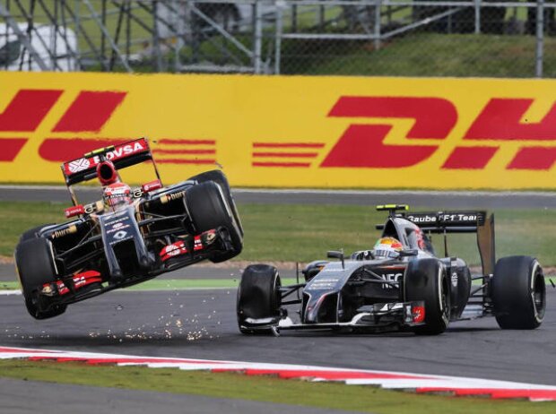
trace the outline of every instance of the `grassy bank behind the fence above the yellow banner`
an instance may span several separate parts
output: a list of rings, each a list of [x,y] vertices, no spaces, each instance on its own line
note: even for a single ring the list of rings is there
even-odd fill
[[[534,76],[533,36],[412,33],[387,41],[284,42],[282,73],[383,76]],[[556,74],[556,39],[544,39],[544,75]]]

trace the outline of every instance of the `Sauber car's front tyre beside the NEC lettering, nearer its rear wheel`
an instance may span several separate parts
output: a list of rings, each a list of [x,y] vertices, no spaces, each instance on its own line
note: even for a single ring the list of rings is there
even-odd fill
[[[437,259],[413,260],[404,276],[404,300],[422,300],[425,324],[415,326],[418,335],[439,335],[450,321],[450,283],[444,266]]]

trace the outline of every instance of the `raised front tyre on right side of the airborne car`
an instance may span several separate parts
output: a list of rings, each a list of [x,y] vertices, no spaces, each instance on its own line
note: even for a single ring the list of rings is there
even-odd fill
[[[193,185],[187,190],[187,211],[191,215],[195,230],[202,233],[206,230],[224,227],[230,233],[232,249],[228,252],[213,255],[209,260],[221,263],[241,253],[243,238],[238,224],[233,218],[228,203],[223,198],[221,186],[213,181]]]

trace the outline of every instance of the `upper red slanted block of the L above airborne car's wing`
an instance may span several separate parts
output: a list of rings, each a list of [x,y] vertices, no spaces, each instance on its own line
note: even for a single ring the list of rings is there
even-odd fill
[[[82,91],[52,131],[100,132],[124,98],[126,92]]]

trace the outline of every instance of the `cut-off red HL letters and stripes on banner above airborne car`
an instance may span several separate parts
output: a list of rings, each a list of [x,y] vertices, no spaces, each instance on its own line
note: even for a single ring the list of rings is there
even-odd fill
[[[4,133],[32,134],[64,91],[18,91],[0,114],[0,161],[16,159],[29,137],[13,137]],[[124,91],[80,91],[50,134],[39,146],[42,160],[62,162],[81,157],[83,153],[109,144],[119,144],[137,137],[102,136],[102,128],[126,98]],[[94,138],[84,137],[93,135]],[[153,153],[161,164],[213,164],[216,162],[214,140],[161,138]]]

